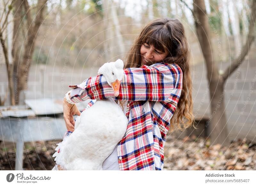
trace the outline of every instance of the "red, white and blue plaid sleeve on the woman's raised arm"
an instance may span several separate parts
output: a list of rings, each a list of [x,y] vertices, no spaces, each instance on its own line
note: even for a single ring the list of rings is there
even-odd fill
[[[108,85],[103,75],[90,77],[70,88],[81,88],[80,92],[71,97],[78,103],[87,99],[106,99],[129,101],[165,101],[178,103],[182,89],[182,71],[176,64],[157,63],[141,68],[124,69],[124,76],[115,97],[113,89]]]

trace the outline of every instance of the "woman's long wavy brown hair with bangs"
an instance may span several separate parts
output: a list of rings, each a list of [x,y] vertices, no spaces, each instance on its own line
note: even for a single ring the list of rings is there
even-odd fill
[[[175,63],[180,66],[183,73],[183,87],[178,106],[171,118],[170,131],[183,130],[194,123],[192,102],[192,81],[190,76],[190,52],[182,23],[178,19],[155,19],[142,28],[130,52],[126,56],[125,68],[140,67],[140,47],[144,43],[153,45],[168,55],[160,62]]]

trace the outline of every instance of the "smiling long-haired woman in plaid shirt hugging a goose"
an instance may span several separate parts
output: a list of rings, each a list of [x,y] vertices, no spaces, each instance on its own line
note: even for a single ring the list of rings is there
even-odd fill
[[[73,115],[80,115],[76,105],[68,102],[113,97],[123,106],[129,123],[103,169],[162,170],[169,128],[184,129],[194,120],[189,49],[183,25],[178,19],[162,18],[142,29],[128,53],[118,97],[101,77],[88,78],[83,89],[78,88],[81,85],[69,86],[73,90],[63,104],[67,129],[74,131]],[[88,107],[92,105],[93,101]]]

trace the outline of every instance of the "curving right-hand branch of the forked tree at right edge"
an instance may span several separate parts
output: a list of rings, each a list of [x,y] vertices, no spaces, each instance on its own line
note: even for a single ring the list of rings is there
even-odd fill
[[[253,0],[252,2],[251,12],[252,12],[252,17],[250,20],[249,33],[247,35],[246,43],[242,48],[241,54],[238,55],[236,60],[232,64],[230,64],[230,66],[225,70],[224,74],[222,75],[222,78],[224,81],[226,81],[229,75],[231,75],[236,70],[236,68],[242,64],[255,38],[254,31],[255,31],[255,23],[256,23],[256,0]]]

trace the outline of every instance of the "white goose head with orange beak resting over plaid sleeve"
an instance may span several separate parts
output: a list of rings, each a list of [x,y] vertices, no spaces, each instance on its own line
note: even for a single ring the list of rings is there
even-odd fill
[[[98,71],[99,75],[104,75],[108,84],[112,87],[114,95],[119,95],[119,88],[124,74],[124,62],[117,59],[115,62],[109,62],[102,65]]]

